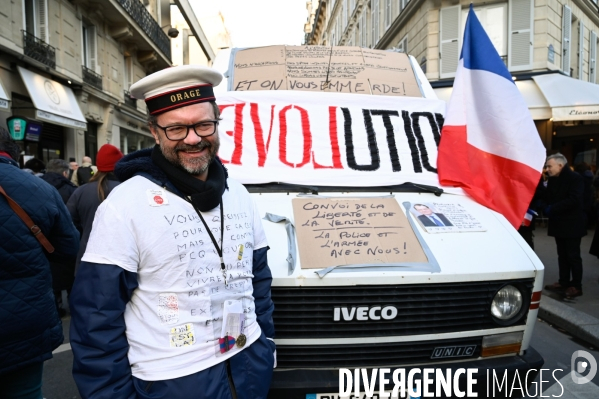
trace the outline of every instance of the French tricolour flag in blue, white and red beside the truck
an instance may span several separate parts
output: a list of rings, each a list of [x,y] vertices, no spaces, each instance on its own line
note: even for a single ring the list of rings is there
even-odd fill
[[[522,95],[472,5],[441,133],[437,167],[518,228],[545,162],[545,148]]]

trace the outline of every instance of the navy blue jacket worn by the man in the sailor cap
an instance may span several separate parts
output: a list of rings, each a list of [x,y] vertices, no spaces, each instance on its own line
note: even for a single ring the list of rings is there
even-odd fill
[[[127,155],[115,168],[121,181],[141,175],[178,190],[154,165],[151,149]],[[115,226],[118,228],[118,226]],[[73,376],[83,399],[260,399],[266,398],[274,365],[270,297],[272,275],[267,250],[254,251],[252,284],[257,321],[262,336],[225,362],[198,373],[164,381],[143,381],[131,374],[127,358],[125,307],[137,288],[137,274],[116,265],[81,262],[71,292],[71,347]],[[229,379],[231,378],[231,379]],[[232,391],[236,392],[236,396]]]

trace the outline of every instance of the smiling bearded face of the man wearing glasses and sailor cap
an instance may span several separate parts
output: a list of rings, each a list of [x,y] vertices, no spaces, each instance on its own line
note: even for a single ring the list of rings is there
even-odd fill
[[[194,123],[214,120],[214,110],[208,102],[188,105],[158,115],[157,123],[160,126],[191,125]],[[183,140],[169,140],[164,130],[159,127],[151,127],[152,135],[164,157],[173,165],[179,166],[189,174],[206,180],[208,166],[216,157],[220,147],[218,132],[212,136],[200,137],[193,129],[190,129],[187,137]]]

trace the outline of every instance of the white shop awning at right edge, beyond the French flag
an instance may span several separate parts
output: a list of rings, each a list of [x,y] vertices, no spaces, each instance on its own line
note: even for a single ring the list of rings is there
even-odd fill
[[[551,107],[554,122],[599,120],[599,85],[557,73],[533,79]]]

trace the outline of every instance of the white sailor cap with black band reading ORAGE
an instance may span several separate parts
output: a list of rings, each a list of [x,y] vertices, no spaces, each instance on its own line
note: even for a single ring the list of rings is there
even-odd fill
[[[145,100],[150,115],[214,101],[213,86],[223,79],[216,69],[181,65],[155,72],[131,85],[131,96]]]

